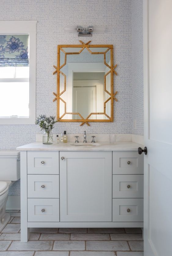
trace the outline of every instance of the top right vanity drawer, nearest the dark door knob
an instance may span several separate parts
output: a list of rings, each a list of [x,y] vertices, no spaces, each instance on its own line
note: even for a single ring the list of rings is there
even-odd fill
[[[113,174],[143,174],[143,155],[137,151],[113,151]]]

